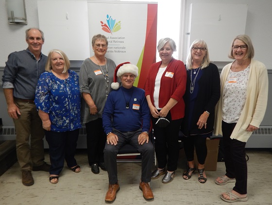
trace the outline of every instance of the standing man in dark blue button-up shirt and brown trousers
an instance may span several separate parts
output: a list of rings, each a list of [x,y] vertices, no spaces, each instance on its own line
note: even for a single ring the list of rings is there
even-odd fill
[[[34,184],[31,171],[50,169],[50,165],[44,162],[44,130],[34,104],[36,85],[41,73],[45,71],[47,56],[41,53],[44,44],[42,31],[27,29],[26,42],[26,50],[9,54],[2,82],[8,114],[16,129],[17,159],[22,171],[22,183],[31,186]]]

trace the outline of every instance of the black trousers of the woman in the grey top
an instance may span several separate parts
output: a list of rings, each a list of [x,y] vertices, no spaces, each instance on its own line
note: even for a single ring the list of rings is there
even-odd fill
[[[87,133],[87,155],[89,166],[104,162],[103,150],[106,142],[106,134],[102,125],[102,118],[85,124]]]

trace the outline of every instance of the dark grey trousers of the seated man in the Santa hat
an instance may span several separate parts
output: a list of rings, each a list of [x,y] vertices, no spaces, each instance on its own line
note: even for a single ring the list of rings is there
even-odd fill
[[[141,153],[141,181],[146,183],[150,182],[154,158],[154,147],[152,141],[149,140],[148,143],[145,142],[143,145],[138,143],[138,136],[142,133],[141,129],[137,130],[136,132],[119,132],[118,130],[113,129],[113,133],[118,136],[117,145],[105,143],[104,149],[104,161],[108,171],[109,184],[112,185],[118,182],[116,158],[119,149],[121,149],[121,147],[123,147],[125,144],[131,144],[138,150],[139,153]]]

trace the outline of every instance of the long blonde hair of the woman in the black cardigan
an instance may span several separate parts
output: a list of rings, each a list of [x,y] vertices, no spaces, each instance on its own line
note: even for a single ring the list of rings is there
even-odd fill
[[[186,68],[187,69],[192,69],[193,68],[193,65],[192,65],[192,62],[193,62],[193,59],[192,59],[192,49],[193,49],[193,46],[196,45],[196,44],[201,44],[201,45],[203,45],[203,47],[206,48],[206,55],[204,56],[204,58],[203,58],[203,60],[201,62],[200,69],[206,68],[210,64],[209,51],[208,51],[208,47],[207,47],[206,42],[203,39],[196,39],[191,44],[191,46],[190,46],[190,52],[187,55],[187,59],[186,59]]]

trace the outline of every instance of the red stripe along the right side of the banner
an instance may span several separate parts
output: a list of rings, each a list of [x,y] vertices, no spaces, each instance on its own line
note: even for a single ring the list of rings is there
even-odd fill
[[[148,70],[156,62],[158,4],[148,4],[143,61],[137,87],[144,88]]]

